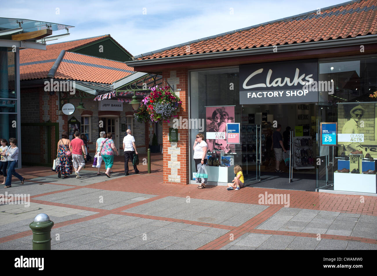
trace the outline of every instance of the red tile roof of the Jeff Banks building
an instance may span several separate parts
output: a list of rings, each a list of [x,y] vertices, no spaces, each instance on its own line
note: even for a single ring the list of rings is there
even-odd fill
[[[54,78],[111,84],[130,75],[134,71],[126,63],[69,52],[107,37],[110,35],[49,44],[46,50],[22,49],[20,50],[20,79],[47,78],[61,50],[66,50],[66,53]]]

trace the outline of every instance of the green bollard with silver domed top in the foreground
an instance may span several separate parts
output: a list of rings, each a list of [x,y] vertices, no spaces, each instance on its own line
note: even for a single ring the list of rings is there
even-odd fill
[[[51,228],[54,222],[49,216],[41,213],[29,225],[33,231],[33,250],[51,250]]]

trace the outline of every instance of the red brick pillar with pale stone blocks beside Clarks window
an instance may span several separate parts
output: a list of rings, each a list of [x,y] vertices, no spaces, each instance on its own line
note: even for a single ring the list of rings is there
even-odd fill
[[[177,117],[182,119],[189,118],[189,102],[188,102],[188,77],[187,70],[176,70],[163,72],[162,76],[169,84],[174,85],[181,91],[174,91],[182,101],[182,105],[177,112]],[[178,142],[169,142],[169,127],[173,127],[173,119],[170,123],[163,123],[163,179],[164,183],[187,185],[190,183],[189,169],[189,130],[178,130]]]

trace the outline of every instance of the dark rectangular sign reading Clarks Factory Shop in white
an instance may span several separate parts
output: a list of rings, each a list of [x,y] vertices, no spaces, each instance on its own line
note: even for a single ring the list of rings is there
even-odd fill
[[[315,59],[240,65],[239,75],[240,104],[318,102]]]

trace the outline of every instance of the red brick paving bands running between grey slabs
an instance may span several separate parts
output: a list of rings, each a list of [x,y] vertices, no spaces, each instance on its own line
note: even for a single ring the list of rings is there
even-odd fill
[[[141,159],[142,160],[142,159]],[[55,194],[59,192],[74,190],[74,189],[81,189],[81,188],[93,188],[93,189],[103,189],[109,191],[124,191],[124,192],[138,192],[143,194],[151,194],[151,195],[158,195],[157,197],[149,198],[147,200],[135,202],[132,204],[128,204],[126,206],[122,206],[119,208],[115,208],[112,210],[104,210],[99,208],[91,208],[91,207],[84,207],[84,206],[75,206],[71,204],[63,204],[63,203],[53,203],[49,201],[43,200],[31,200],[34,203],[41,203],[47,204],[52,206],[61,206],[61,207],[69,207],[74,209],[80,210],[88,210],[93,212],[98,212],[95,215],[90,215],[84,218],[64,221],[61,223],[57,223],[54,225],[54,229],[58,227],[63,227],[70,224],[75,224],[81,221],[89,221],[94,218],[103,217],[108,214],[118,214],[118,215],[127,215],[132,217],[139,217],[139,218],[148,218],[152,220],[163,220],[163,221],[171,221],[171,222],[178,222],[178,223],[186,223],[186,224],[193,224],[198,226],[207,226],[207,227],[214,227],[229,230],[226,234],[220,236],[219,238],[215,239],[214,241],[209,242],[208,244],[199,248],[201,249],[220,249],[227,245],[232,240],[230,239],[230,235],[233,234],[233,240],[239,238],[240,236],[244,235],[245,233],[261,233],[261,234],[268,234],[268,235],[286,235],[286,236],[304,236],[310,238],[317,238],[316,233],[301,233],[301,232],[288,232],[288,231],[275,231],[275,230],[261,230],[255,229],[258,225],[266,221],[270,218],[274,213],[279,211],[281,208],[284,207],[283,204],[274,204],[269,206],[268,204],[262,204],[269,206],[267,209],[262,211],[261,213],[257,214],[244,224],[234,227],[234,226],[226,226],[221,224],[213,224],[213,223],[204,223],[198,221],[189,221],[189,220],[179,220],[175,218],[165,218],[165,217],[157,217],[152,215],[143,215],[143,214],[136,214],[136,213],[128,213],[122,212],[123,210],[130,209],[135,206],[139,206],[151,201],[158,200],[160,198],[164,198],[167,196],[174,196],[174,197],[187,197],[190,196],[192,198],[199,198],[204,200],[217,200],[217,201],[228,201],[228,202],[235,202],[235,203],[247,203],[247,204],[259,204],[259,195],[264,195],[267,191],[268,194],[289,194],[290,195],[290,206],[293,208],[300,208],[300,209],[314,209],[314,210],[328,210],[328,211],[336,211],[336,212],[345,212],[345,213],[360,213],[366,215],[374,215],[377,216],[377,197],[371,196],[364,196],[363,200],[361,200],[360,196],[357,195],[338,195],[338,194],[329,194],[323,192],[307,192],[307,191],[288,191],[288,190],[277,190],[277,189],[262,189],[262,188],[251,188],[245,187],[242,188],[241,191],[227,191],[224,186],[207,186],[206,189],[197,189],[196,185],[170,185],[164,184],[162,182],[162,156],[161,154],[156,154],[151,158],[152,160],[152,174],[147,174],[145,171],[143,172],[142,165],[139,166],[139,170],[141,171],[140,174],[134,175],[132,174],[133,171],[130,171],[131,175],[127,176],[127,178],[116,178],[110,179],[108,181],[95,183],[86,186],[74,186],[74,185],[65,185],[64,186],[73,186],[70,189],[48,192],[40,195],[34,195],[31,198],[40,197],[42,195],[49,195]],[[146,166],[145,166],[146,167]],[[37,168],[37,167],[34,167]],[[132,167],[131,167],[132,168]],[[96,171],[95,168],[89,167],[86,168],[92,171]],[[25,171],[23,171],[25,170]],[[123,156],[116,157],[115,165],[113,167],[114,172],[124,172],[124,165],[123,165]],[[21,175],[26,175],[26,173],[32,172],[34,177],[39,176],[46,176],[51,175],[51,171],[43,167],[38,167],[35,170],[30,168],[23,168],[19,170]],[[54,174],[54,172],[52,172]],[[127,180],[127,181],[125,181]],[[44,183],[43,181],[35,181]],[[56,185],[56,183],[49,183]],[[360,202],[364,201],[364,202]],[[21,233],[17,233],[14,235],[6,236],[4,238],[0,238],[0,243],[11,241],[14,239],[22,238],[24,236],[31,235],[31,231],[25,231]],[[345,241],[359,241],[371,244],[377,244],[376,239],[369,239],[369,238],[361,238],[361,237],[351,237],[351,236],[339,236],[339,235],[328,235],[328,234],[321,234],[321,238],[324,239],[337,239],[337,240],[345,240]]]

